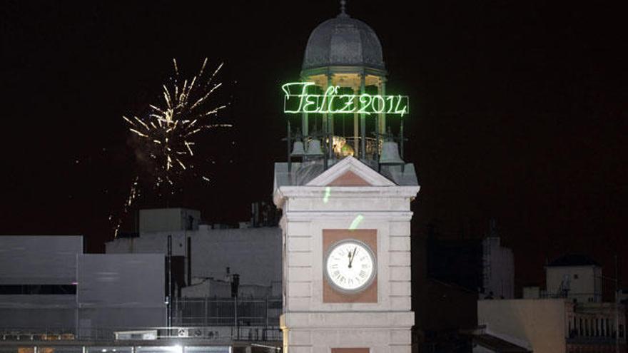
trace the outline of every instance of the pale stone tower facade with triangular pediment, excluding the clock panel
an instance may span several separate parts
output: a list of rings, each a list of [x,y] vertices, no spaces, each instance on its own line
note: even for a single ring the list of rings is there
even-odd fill
[[[347,172],[355,174],[352,185],[358,177],[368,186],[338,185]],[[410,352],[410,201],[418,190],[396,185],[353,157],[306,185],[275,185],[275,204],[283,210],[285,352]],[[376,234],[377,300],[355,302],[347,295],[344,302],[325,302],[323,230],[346,230],[351,237],[354,229]]]

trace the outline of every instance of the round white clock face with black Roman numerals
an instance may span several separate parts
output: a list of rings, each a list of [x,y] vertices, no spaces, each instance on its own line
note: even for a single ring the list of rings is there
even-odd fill
[[[375,255],[359,240],[341,240],[330,247],[325,257],[325,277],[341,292],[360,292],[373,282]]]

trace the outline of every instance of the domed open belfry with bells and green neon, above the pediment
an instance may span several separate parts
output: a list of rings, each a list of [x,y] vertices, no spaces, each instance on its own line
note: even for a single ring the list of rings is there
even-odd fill
[[[350,17],[345,5],[340,0],[340,14],[310,34],[300,81],[282,87],[284,112],[300,114],[294,135],[288,119],[288,160],[323,159],[327,168],[355,155],[378,170],[402,165],[407,96],[386,95],[380,39],[368,24]],[[395,115],[399,119],[388,120]]]

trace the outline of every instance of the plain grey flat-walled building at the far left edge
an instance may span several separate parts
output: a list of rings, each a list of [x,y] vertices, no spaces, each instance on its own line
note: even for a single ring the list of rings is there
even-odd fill
[[[0,236],[0,330],[89,339],[166,323],[163,255],[83,254],[81,236]]]

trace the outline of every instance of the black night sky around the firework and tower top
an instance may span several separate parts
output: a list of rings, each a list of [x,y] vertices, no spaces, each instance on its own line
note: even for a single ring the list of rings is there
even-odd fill
[[[184,180],[138,208],[250,218],[285,160],[280,85],[298,80],[310,31],[337,1],[2,1],[1,234],[82,234],[101,252],[138,170],[122,115],[141,115],[177,58],[224,62],[231,103],[197,151],[211,183]],[[410,96],[405,160],[420,195],[413,234],[479,237],[495,218],[517,286],[546,259],[628,265],[627,40],[622,11],[576,1],[349,1],[383,45],[387,91]],[[132,215],[123,230],[133,230]],[[628,270],[622,273],[628,283]]]

